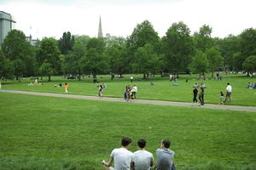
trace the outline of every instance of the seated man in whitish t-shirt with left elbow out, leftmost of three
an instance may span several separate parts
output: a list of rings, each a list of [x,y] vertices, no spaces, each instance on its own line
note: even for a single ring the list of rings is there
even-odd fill
[[[102,161],[102,164],[107,170],[131,170],[131,156],[132,152],[128,149],[131,145],[131,139],[128,137],[123,137],[121,140],[122,147],[114,149],[110,154],[110,159],[108,162]],[[110,167],[114,162],[114,167]]]

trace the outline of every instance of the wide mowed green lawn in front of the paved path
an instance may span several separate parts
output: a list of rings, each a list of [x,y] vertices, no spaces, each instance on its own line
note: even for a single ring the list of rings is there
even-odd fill
[[[131,151],[146,139],[154,159],[160,139],[171,139],[177,169],[253,170],[255,123],[252,112],[0,93],[0,169],[103,169],[129,136]]]

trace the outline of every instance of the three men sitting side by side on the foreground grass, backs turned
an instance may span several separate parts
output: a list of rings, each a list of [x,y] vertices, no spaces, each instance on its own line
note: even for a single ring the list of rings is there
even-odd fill
[[[153,169],[156,170],[175,170],[174,166],[174,151],[170,150],[171,142],[169,139],[162,139],[160,149],[156,150],[157,161],[154,164],[154,156],[152,153],[145,150],[147,142],[145,139],[137,141],[138,150],[132,153],[129,148],[131,139],[123,137],[121,147],[114,149],[110,154],[109,161],[102,160],[102,165],[106,170],[141,170]],[[114,167],[111,167],[114,163]]]

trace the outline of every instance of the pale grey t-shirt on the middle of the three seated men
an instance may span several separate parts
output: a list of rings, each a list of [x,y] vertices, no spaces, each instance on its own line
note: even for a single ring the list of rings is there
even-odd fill
[[[154,163],[154,157],[147,150],[137,150],[132,155],[132,162],[134,162],[135,170],[150,170]]]

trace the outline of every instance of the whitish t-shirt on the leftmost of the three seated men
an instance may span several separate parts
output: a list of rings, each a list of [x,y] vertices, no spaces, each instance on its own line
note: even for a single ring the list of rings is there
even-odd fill
[[[125,148],[114,149],[111,154],[115,170],[130,170],[132,152]]]

